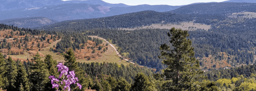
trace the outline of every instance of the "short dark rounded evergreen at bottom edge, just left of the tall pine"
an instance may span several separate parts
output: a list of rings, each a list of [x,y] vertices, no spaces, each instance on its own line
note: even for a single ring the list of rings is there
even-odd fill
[[[153,83],[151,83],[144,73],[138,73],[134,78],[134,83],[131,87],[131,91],[135,90],[156,90]]]

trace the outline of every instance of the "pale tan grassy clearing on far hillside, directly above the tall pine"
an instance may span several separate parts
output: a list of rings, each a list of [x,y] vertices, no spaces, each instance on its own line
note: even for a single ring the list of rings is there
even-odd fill
[[[194,23],[190,22],[181,22],[179,24],[152,24],[150,26],[143,26],[137,28],[119,28],[119,30],[135,30],[135,29],[171,29],[171,28],[178,28],[182,30],[197,30],[197,29],[204,29],[208,30],[211,28],[211,25],[201,24],[201,23]]]

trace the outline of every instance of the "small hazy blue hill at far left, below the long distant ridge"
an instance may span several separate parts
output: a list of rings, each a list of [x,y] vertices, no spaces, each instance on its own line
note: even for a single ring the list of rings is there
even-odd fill
[[[35,28],[42,27],[49,24],[57,23],[58,21],[51,20],[49,18],[44,17],[33,17],[33,18],[18,18],[18,19],[7,19],[2,20],[0,23],[4,23],[7,25],[13,25],[20,28]]]

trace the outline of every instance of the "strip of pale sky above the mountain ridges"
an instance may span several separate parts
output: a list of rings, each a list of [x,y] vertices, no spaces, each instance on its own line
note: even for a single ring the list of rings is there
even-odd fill
[[[67,1],[67,0],[62,0]],[[141,4],[149,4],[149,5],[188,5],[192,3],[206,3],[206,2],[223,2],[227,0],[102,0],[111,4],[123,3],[126,5],[141,5]]]

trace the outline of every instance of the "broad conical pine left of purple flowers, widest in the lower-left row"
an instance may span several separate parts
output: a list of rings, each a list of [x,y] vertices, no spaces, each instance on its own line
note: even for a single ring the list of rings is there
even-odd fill
[[[40,55],[37,53],[34,56],[33,64],[30,68],[29,80],[31,82],[31,90],[46,90],[46,84],[50,81],[50,76],[46,64],[41,60]]]

